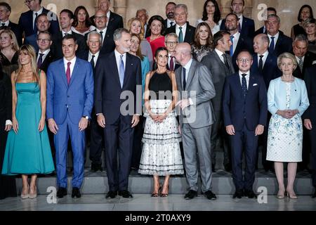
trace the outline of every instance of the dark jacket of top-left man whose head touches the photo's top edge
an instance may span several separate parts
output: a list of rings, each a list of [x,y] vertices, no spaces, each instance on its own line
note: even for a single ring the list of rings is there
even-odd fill
[[[48,13],[49,12],[49,13]],[[55,13],[48,11],[43,7],[43,13],[46,13],[48,16],[48,20],[51,21],[51,26],[49,27],[49,32],[51,34],[56,34],[59,32],[59,23],[58,17]],[[37,29],[33,29],[33,11],[27,11],[22,13],[18,23],[21,32],[25,32],[25,37],[35,34]]]

